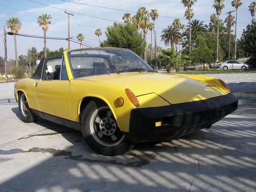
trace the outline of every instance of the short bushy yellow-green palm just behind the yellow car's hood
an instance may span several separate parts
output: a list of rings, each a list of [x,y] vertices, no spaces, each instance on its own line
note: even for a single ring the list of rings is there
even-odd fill
[[[170,73],[174,73],[174,69],[180,69],[182,63],[180,53],[181,51],[177,52],[174,48],[162,50],[162,54],[160,54],[157,59],[165,63]]]

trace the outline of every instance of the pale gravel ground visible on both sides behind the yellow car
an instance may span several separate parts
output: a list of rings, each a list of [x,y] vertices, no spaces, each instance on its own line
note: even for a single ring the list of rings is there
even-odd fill
[[[203,74],[222,79],[231,90],[256,90],[256,73]],[[0,83],[0,100],[14,98],[15,82]]]

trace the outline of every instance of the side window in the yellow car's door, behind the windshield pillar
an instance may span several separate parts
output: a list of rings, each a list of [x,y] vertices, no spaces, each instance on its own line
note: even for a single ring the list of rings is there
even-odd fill
[[[44,80],[57,80],[60,78],[61,58],[48,60]]]

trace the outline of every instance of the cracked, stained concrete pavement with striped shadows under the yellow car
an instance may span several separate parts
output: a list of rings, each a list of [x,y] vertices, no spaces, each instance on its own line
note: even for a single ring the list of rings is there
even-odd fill
[[[209,130],[117,157],[95,154],[81,134],[0,104],[0,191],[256,191],[256,92]]]

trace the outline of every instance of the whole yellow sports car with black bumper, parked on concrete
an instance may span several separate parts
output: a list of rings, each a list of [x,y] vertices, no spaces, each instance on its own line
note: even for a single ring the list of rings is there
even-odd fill
[[[41,117],[70,126],[106,156],[209,128],[238,108],[222,80],[157,73],[119,48],[43,58],[31,78],[16,82],[15,98],[23,121]]]

